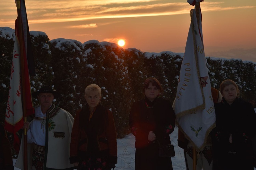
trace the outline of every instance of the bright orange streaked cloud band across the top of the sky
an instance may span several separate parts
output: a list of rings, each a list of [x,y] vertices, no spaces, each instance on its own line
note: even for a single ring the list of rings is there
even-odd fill
[[[0,15],[3,13],[4,18],[0,19],[0,23],[13,23],[13,20],[8,20],[13,17],[16,18],[17,12],[10,13],[12,5],[15,8],[15,3],[10,0],[4,1],[6,8],[1,8]],[[39,3],[40,2],[40,3]],[[166,16],[166,15],[180,15],[187,14],[193,8],[187,2],[166,3],[163,0],[74,0],[72,2],[67,0],[45,0],[42,1],[26,0],[28,21],[30,24],[37,23],[54,23],[54,22],[69,22],[69,21],[86,21],[91,19],[106,19],[106,18],[129,18],[129,17],[145,17],[145,16]],[[202,11],[224,11],[236,10],[241,8],[255,8],[256,6],[228,6],[224,2],[202,2]],[[226,6],[224,6],[226,5]],[[234,5],[234,4],[232,4]],[[8,10],[4,11],[4,10]],[[9,14],[7,16],[7,14]],[[8,19],[6,19],[8,17]],[[81,26],[74,26],[81,27]],[[93,26],[84,25],[89,28]]]

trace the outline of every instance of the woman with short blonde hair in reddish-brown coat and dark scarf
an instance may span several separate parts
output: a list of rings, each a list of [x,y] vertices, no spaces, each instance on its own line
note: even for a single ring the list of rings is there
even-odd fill
[[[70,163],[77,170],[110,170],[117,163],[116,129],[112,112],[100,103],[96,84],[85,88],[85,107],[76,112],[70,143]]]

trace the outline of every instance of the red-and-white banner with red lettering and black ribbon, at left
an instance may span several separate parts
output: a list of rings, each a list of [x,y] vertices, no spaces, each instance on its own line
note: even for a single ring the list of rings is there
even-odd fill
[[[15,1],[18,17],[15,21],[15,42],[10,76],[10,89],[5,113],[5,129],[14,134],[14,148],[20,147],[18,131],[23,127],[23,117],[34,113],[31,99],[30,74],[34,75],[34,61],[27,21],[25,1]],[[29,63],[32,67],[29,71]]]

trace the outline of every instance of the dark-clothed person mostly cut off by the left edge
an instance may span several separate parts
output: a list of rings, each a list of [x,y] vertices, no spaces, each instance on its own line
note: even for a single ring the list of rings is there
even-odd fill
[[[0,169],[13,170],[11,145],[2,124],[0,124],[0,144]]]

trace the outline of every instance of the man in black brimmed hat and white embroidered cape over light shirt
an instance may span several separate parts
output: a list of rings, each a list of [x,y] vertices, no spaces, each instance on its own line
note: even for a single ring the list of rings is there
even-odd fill
[[[35,107],[35,118],[23,126],[27,129],[28,169],[75,169],[69,163],[74,118],[52,103],[60,94],[50,86],[43,86],[32,96],[41,105]],[[15,166],[23,169],[23,144]]]

